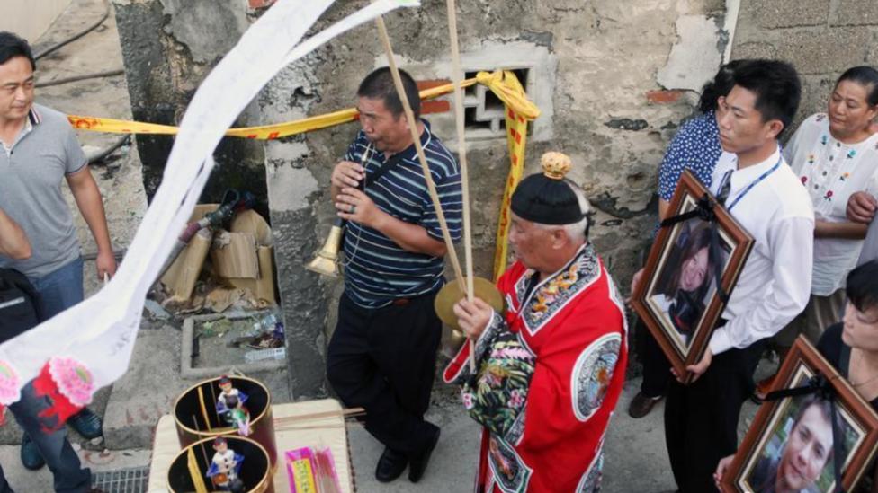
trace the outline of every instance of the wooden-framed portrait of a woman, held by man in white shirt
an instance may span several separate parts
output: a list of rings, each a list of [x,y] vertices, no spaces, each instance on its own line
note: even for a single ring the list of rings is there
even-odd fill
[[[659,229],[632,307],[677,374],[686,374],[686,366],[697,363],[710,342],[728,301],[721,293],[731,294],[753,237],[688,171],[669,210],[676,223]],[[699,210],[703,214],[696,214]]]

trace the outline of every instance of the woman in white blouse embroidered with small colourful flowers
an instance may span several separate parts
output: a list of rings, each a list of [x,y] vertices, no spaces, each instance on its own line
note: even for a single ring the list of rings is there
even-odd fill
[[[857,191],[878,193],[878,71],[848,69],[829,96],[827,113],[802,122],[784,148],[784,158],[802,179],[814,206],[814,265],[811,300],[776,339],[782,351],[803,332],[817,343],[824,327],[841,320],[847,273],[865,237],[865,224],[845,216]]]

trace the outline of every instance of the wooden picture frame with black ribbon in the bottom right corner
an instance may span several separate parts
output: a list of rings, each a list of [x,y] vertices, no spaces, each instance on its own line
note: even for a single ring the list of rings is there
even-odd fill
[[[784,359],[772,384],[772,391],[801,387],[815,375],[822,375],[827,379],[835,395],[839,436],[843,436],[845,441],[841,482],[845,491],[851,491],[861,479],[878,447],[878,415],[850,383],[838,374],[836,368],[802,336],[795,341]],[[826,405],[821,399],[820,394],[812,393],[763,403],[744,436],[738,453],[723,475],[723,493],[761,489],[760,485],[765,485],[767,481],[775,480],[779,474],[783,474],[777,471],[793,471],[790,466],[785,465],[792,461],[785,460],[784,457],[787,456],[788,448],[792,457],[793,451],[797,450],[793,447],[800,446],[789,444],[802,443],[799,438],[793,439],[793,436],[799,436],[800,420],[805,423],[802,428],[807,429],[808,436],[816,437],[811,438],[812,444],[808,445],[810,450],[832,446],[834,442],[831,421],[827,418],[825,407],[820,411],[820,406]],[[803,406],[807,407],[802,409]],[[807,421],[808,419],[811,421]],[[821,447],[813,445],[820,440],[826,442],[827,436],[828,444],[824,443]],[[814,457],[814,454],[810,454],[808,459],[799,460],[793,477],[802,483],[811,482],[803,486],[797,485],[797,488],[817,493],[835,491],[834,457],[829,455],[825,458],[822,467],[818,462],[819,454]],[[766,467],[766,464],[774,465]],[[802,472],[804,474],[800,474]],[[809,478],[809,474],[816,476],[816,479]]]

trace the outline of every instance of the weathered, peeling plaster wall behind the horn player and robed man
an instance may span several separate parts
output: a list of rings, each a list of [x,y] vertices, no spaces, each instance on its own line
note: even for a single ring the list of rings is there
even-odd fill
[[[163,123],[179,120],[193,89],[246,27],[244,20],[258,15],[253,6],[262,4],[114,2],[135,118]],[[339,3],[318,27],[364,4]],[[483,0],[459,9],[465,68],[530,68],[529,92],[543,115],[533,127],[526,172],[538,170],[547,150],[573,157],[571,178],[599,210],[592,239],[627,290],[656,219],[653,197],[663,149],[692,111],[697,95],[690,90],[720,64],[728,39],[725,2]],[[450,76],[443,2],[424,0],[420,9],[391,14],[386,22],[399,62],[418,80]],[[239,123],[274,123],[350,107],[360,79],[384,60],[373,26],[364,26],[283,70]],[[441,104],[435,109],[440,112],[427,118],[456,149],[451,114],[443,113]],[[258,175],[267,187],[297,397],[327,392],[324,353],[340,285],[302,266],[334,218],[329,174],[356,129],[351,124],[266,145],[229,141],[223,148],[235,151],[219,151],[217,180],[238,174],[241,166],[229,163],[235,157],[253,170],[248,180]],[[477,274],[489,277],[509,158],[505,138],[480,132],[468,142],[474,257]],[[152,167],[145,180],[154,187],[170,142],[139,143],[145,169]]]

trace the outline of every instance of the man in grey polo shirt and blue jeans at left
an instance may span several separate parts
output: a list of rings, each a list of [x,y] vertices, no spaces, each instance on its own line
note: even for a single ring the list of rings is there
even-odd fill
[[[63,114],[33,102],[35,68],[27,41],[0,31],[0,207],[21,224],[32,247],[30,259],[0,259],[0,267],[17,269],[30,278],[40,294],[40,321],[45,321],[84,297],[83,261],[76,227],[61,194],[62,181],[67,181],[94,235],[98,277],[112,276],[116,261],[101,192],[76,135]],[[69,422],[87,438],[102,433],[100,418],[89,409]],[[56,452],[60,447],[49,451]],[[58,463],[58,457],[45,459],[50,465]],[[22,442],[22,462],[29,469],[45,463],[28,434]]]

